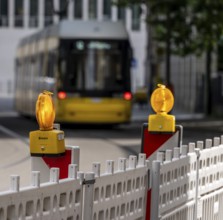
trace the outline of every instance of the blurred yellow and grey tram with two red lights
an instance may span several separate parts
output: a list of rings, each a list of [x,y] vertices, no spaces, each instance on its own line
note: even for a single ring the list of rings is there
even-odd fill
[[[16,110],[34,116],[45,89],[58,122],[127,123],[131,54],[121,22],[62,21],[26,37],[16,53]]]

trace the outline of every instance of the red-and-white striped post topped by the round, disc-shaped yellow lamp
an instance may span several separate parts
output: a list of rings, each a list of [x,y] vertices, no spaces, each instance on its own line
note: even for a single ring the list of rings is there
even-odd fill
[[[175,126],[175,116],[168,114],[174,104],[173,94],[168,88],[158,84],[150,101],[156,114],[149,115],[148,123],[143,124],[141,152],[145,153],[149,160],[150,179],[152,179],[149,184],[151,186],[148,187],[146,220],[156,220],[159,219],[159,183],[153,181],[153,176],[159,175],[157,170],[159,166],[153,166],[155,165],[153,161],[156,161],[158,151],[173,150],[181,146],[183,128]]]

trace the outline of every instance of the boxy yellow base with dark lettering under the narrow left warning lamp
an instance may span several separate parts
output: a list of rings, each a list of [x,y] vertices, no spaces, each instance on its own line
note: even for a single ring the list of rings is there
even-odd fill
[[[32,131],[29,139],[32,156],[60,156],[65,153],[64,132],[61,130]]]

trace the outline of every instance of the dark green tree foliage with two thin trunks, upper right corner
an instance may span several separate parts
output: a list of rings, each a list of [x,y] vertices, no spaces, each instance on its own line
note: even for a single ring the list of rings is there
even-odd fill
[[[146,22],[153,28],[154,40],[166,52],[167,82],[170,82],[170,54],[207,54],[205,110],[210,114],[211,54],[223,35],[223,0],[118,0],[116,3],[146,5]]]

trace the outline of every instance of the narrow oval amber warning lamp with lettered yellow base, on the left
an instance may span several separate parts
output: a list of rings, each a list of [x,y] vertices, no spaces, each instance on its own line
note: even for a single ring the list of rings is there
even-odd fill
[[[29,134],[32,156],[60,156],[65,153],[64,132],[53,128],[55,109],[52,94],[44,90],[36,102],[36,118],[40,129]]]

